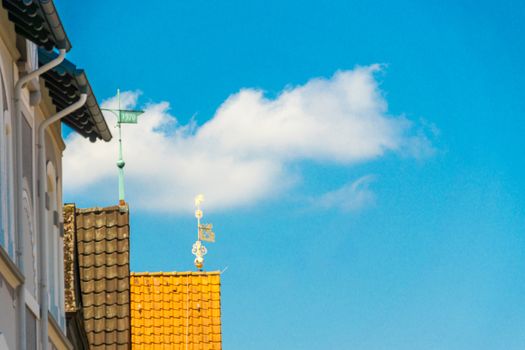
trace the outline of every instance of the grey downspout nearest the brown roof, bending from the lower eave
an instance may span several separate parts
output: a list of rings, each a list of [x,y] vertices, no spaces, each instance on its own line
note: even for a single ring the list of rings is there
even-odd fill
[[[47,174],[46,174],[46,143],[45,143],[45,131],[54,122],[68,116],[72,112],[82,107],[87,100],[86,91],[82,91],[80,98],[77,102],[64,108],[57,114],[44,120],[38,126],[38,178],[40,184],[38,186],[38,217],[40,218],[40,244],[38,245],[38,262],[40,266],[40,283],[39,283],[39,299],[40,299],[40,334],[42,347],[41,350],[47,350],[47,334],[48,334],[48,286],[47,286],[47,239],[48,239],[48,222],[46,215],[46,192],[47,192]],[[63,281],[62,281],[63,282]]]

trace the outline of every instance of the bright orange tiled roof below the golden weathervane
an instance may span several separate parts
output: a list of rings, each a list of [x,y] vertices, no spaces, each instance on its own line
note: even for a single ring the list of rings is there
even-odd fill
[[[133,350],[221,349],[220,294],[219,272],[132,272]]]

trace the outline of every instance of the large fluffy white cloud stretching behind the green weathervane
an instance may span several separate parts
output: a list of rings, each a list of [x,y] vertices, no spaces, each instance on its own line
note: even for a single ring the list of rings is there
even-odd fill
[[[312,79],[275,99],[243,89],[200,127],[178,124],[167,102],[144,106],[139,124],[123,127],[127,199],[135,208],[179,212],[191,210],[194,195],[204,193],[207,208],[232,208],[293,186],[297,174],[289,165],[302,160],[348,166],[387,152],[428,153],[428,140],[412,122],[388,115],[374,77],[379,69]],[[138,97],[122,93],[122,108],[135,108]],[[116,100],[103,105],[115,107]],[[115,125],[112,114],[106,117]],[[67,138],[66,193],[96,193],[98,205],[117,201],[116,129],[113,135],[111,143],[92,144],[77,134]]]

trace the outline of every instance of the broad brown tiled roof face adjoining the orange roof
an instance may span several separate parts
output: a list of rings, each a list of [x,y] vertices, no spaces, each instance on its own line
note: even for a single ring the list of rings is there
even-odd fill
[[[90,348],[130,349],[128,212],[76,209],[76,230]]]

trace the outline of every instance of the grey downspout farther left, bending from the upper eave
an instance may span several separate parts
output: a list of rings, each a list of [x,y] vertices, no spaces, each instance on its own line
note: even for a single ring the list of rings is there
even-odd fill
[[[15,84],[14,91],[14,117],[16,119],[16,193],[17,193],[17,215],[16,215],[16,230],[18,232],[16,240],[16,259],[17,265],[22,271],[22,274],[25,276],[25,267],[24,267],[24,234],[22,232],[23,226],[23,217],[22,213],[24,211],[22,204],[22,114],[20,113],[22,103],[22,89],[24,86],[34,78],[44,74],[48,70],[58,66],[66,57],[66,50],[59,50],[60,54],[49,63],[43,65],[42,67],[35,69],[32,72],[24,75],[19,78]],[[33,210],[36,210],[34,208]],[[26,350],[26,300],[25,300],[25,282],[22,282],[17,289],[17,311],[18,311],[18,349]],[[46,320],[47,322],[47,320]]]

